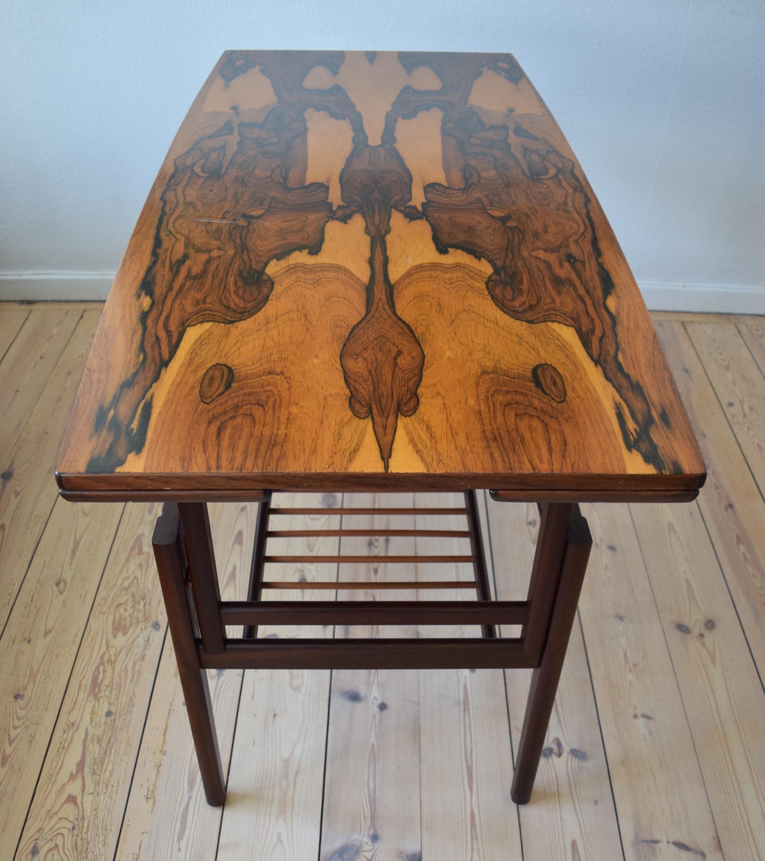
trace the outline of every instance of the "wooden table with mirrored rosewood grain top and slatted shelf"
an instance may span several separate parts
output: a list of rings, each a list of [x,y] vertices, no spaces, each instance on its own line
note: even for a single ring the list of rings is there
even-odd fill
[[[526,802],[591,546],[577,503],[690,500],[705,468],[606,217],[510,54],[235,51],[140,214],[57,479],[65,499],[165,500],[153,543],[210,803],[204,670],[285,666],[533,667]],[[491,601],[476,488],[540,504],[526,601]],[[301,559],[267,554],[271,493],[316,489],[464,492],[470,554],[416,561],[470,561],[478,600],[261,600],[301,585],[264,580]],[[211,500],[260,501],[246,600],[221,601]],[[482,638],[257,638],[387,623]]]

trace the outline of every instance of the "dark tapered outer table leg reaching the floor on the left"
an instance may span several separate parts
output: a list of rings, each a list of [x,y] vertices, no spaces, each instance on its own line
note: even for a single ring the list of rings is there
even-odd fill
[[[189,713],[191,734],[199,760],[204,794],[209,804],[220,807],[226,800],[226,783],[221,766],[221,753],[215,734],[213,703],[210,699],[207,673],[199,666],[194,642],[189,603],[183,585],[182,556],[179,548],[177,506],[165,503],[152,536],[154,558],[157,561],[159,584],[165,598],[167,621],[175,648],[178,675],[183,698]]]

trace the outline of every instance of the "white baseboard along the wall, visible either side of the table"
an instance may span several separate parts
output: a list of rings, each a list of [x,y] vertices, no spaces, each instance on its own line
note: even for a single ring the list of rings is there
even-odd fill
[[[0,272],[0,300],[103,300],[114,272]],[[651,311],[765,314],[765,286],[640,284]]]

